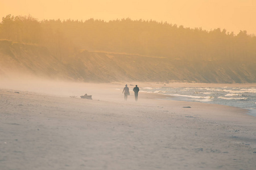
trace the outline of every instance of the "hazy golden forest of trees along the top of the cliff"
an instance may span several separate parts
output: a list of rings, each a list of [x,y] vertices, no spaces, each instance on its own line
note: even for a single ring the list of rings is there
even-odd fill
[[[37,20],[7,15],[0,23],[0,39],[47,46],[57,57],[80,49],[189,61],[226,59],[256,61],[256,37],[225,29],[205,31],[154,20]]]

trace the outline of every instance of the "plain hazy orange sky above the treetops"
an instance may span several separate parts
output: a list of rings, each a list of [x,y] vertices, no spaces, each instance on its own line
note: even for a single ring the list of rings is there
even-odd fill
[[[256,0],[0,0],[0,21],[8,14],[39,20],[152,19],[256,35]]]

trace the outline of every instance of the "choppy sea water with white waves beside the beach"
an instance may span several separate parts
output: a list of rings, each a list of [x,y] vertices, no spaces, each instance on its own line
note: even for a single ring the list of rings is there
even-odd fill
[[[256,116],[256,88],[254,87],[145,87],[141,91],[174,96],[174,100],[222,104],[248,109]]]

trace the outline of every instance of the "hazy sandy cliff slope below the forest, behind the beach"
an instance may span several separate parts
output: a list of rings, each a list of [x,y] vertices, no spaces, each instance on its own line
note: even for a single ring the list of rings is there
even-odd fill
[[[255,83],[256,63],[170,59],[108,52],[81,51],[56,57],[46,47],[0,41],[0,76],[26,74],[82,82]]]

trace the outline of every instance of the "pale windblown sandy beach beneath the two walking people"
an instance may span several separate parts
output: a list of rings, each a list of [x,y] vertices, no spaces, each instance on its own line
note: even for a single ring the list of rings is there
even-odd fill
[[[256,169],[246,110],[143,92],[125,101],[124,83],[18,85],[0,86],[2,170]]]

